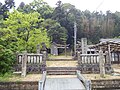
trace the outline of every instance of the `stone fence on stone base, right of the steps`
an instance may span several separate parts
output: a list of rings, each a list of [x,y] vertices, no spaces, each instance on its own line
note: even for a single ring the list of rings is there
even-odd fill
[[[101,59],[102,58],[102,59]],[[102,60],[102,64],[100,64]],[[105,67],[107,73],[110,72],[111,65],[109,62],[108,54],[102,53],[102,56],[99,54],[80,54],[78,53],[78,69],[82,73],[100,73],[101,67]]]

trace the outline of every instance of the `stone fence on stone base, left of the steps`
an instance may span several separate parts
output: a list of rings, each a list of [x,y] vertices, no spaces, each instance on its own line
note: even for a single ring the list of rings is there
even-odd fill
[[[46,52],[43,54],[18,54],[16,57],[15,71],[24,71],[26,73],[42,73],[46,67]],[[26,74],[24,74],[26,75]]]

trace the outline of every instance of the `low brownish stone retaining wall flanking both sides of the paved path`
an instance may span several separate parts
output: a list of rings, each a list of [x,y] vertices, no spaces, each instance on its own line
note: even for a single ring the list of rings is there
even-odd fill
[[[120,79],[91,80],[91,90],[120,90]],[[0,82],[0,90],[38,90],[38,81]]]

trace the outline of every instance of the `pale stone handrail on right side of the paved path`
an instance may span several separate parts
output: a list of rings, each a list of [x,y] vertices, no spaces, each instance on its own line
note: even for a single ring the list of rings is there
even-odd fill
[[[83,85],[85,86],[86,90],[91,90],[91,80],[85,79],[82,74],[80,74],[80,71],[77,70],[77,78],[82,81]]]

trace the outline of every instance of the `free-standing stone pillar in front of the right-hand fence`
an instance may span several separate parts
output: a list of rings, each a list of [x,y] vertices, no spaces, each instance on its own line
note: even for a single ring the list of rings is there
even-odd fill
[[[99,51],[99,67],[100,67],[100,77],[105,76],[105,60],[103,51],[100,49]]]

